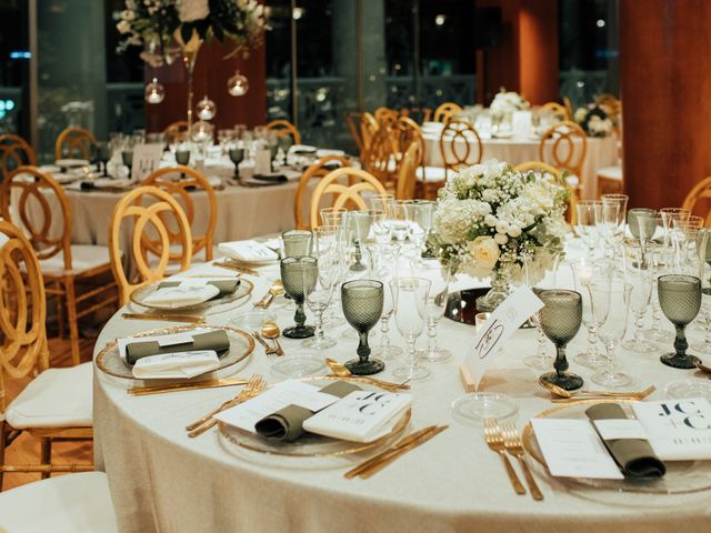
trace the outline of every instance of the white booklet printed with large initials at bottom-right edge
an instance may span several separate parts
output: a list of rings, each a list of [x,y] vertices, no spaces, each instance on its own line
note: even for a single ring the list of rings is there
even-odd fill
[[[711,404],[705,398],[632,404],[662,461],[711,459]]]

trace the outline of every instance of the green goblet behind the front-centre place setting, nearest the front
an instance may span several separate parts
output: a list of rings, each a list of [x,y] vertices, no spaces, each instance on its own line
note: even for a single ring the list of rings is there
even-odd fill
[[[380,320],[383,306],[383,288],[380,281],[353,280],[341,285],[343,315],[358,332],[358,359],[346,363],[346,368],[356,375],[370,375],[381,372],[385,364],[378,359],[369,359],[368,332]]]

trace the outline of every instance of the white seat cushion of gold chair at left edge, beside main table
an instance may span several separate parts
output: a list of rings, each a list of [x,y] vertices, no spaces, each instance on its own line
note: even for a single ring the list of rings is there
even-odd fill
[[[34,378],[6,410],[18,430],[90,428],[93,421],[91,364],[48,369]]]

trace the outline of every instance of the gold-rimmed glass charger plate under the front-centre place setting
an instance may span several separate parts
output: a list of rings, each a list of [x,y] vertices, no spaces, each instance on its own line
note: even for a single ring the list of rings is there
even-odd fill
[[[328,382],[328,381],[350,381],[357,383],[359,386],[363,388],[363,390],[374,390],[380,391],[383,390],[379,386],[364,384],[362,381],[359,381],[354,378],[338,378],[334,375],[324,375],[318,378],[303,378],[298,381],[308,381],[313,383],[319,382]],[[301,457],[301,459],[313,459],[313,457],[341,457],[346,455],[352,455],[370,450],[374,450],[377,447],[383,446],[393,440],[395,440],[399,435],[402,434],[404,429],[410,423],[410,418],[412,415],[412,410],[408,409],[400,419],[397,424],[393,426],[392,431],[380,439],[372,442],[352,442],[352,441],[343,441],[341,439],[332,439],[329,436],[317,435],[314,433],[304,432],[296,442],[281,442],[281,441],[271,441],[269,439],[264,439],[256,433],[251,433],[249,431],[240,430],[239,428],[230,426],[223,422],[218,422],[218,428],[220,430],[220,435],[229,443],[234,444],[239,447],[251,450],[253,452],[259,452],[267,455],[280,455],[284,457]]]

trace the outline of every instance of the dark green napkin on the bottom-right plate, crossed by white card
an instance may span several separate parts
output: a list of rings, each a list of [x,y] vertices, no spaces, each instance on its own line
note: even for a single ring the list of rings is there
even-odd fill
[[[617,403],[601,403],[585,410],[590,420],[627,420],[628,416]],[[594,425],[594,424],[593,424]],[[600,430],[598,433],[600,434]],[[661,477],[667,472],[664,463],[654,454],[649,441],[644,439],[600,438],[618,463],[622,473],[629,477]]]

